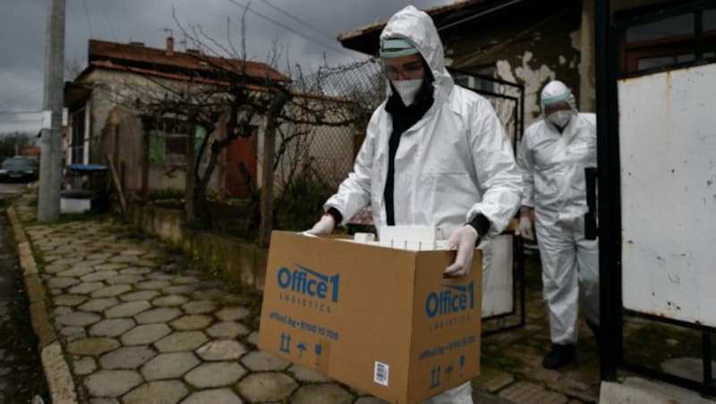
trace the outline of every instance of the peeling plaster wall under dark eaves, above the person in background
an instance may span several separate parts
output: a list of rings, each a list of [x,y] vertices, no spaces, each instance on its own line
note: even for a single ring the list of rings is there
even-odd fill
[[[581,2],[535,3],[441,32],[452,66],[524,85],[524,128],[541,119],[539,95],[550,80],[564,81],[580,99]]]

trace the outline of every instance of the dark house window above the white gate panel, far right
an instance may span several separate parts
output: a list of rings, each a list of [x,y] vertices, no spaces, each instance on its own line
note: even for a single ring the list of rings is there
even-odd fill
[[[701,24],[701,41],[697,40]],[[716,58],[716,9],[683,13],[623,30],[622,72],[640,72]]]

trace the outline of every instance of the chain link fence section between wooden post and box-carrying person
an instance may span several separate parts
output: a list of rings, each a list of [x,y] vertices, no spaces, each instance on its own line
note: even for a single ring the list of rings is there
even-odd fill
[[[320,116],[283,125],[277,139],[277,189],[286,189],[299,173],[335,190],[353,169],[373,110],[385,97],[385,80],[375,60],[321,68],[297,80],[294,100],[301,110]],[[300,120],[299,120],[300,121]]]

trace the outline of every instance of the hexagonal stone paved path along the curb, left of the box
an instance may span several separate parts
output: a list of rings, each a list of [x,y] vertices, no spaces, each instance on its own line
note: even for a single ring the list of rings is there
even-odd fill
[[[81,402],[379,402],[257,350],[255,298],[157,240],[101,220],[25,230]]]

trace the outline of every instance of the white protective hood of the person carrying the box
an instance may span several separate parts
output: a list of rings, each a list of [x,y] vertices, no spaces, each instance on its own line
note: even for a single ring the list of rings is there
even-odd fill
[[[438,89],[436,99],[445,100],[453,89],[453,79],[445,69],[445,55],[438,29],[430,15],[423,13],[413,5],[395,13],[380,33],[380,41],[388,38],[401,38],[418,48],[422,58],[430,66],[434,86]],[[388,88],[388,95],[390,86]]]

